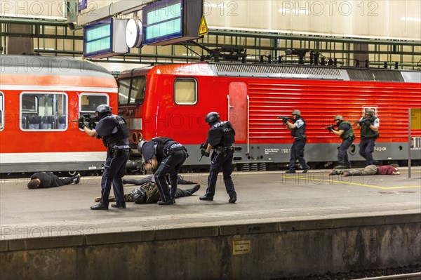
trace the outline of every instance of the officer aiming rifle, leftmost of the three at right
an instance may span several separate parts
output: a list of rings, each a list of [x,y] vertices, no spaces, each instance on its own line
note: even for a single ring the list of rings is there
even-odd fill
[[[302,119],[301,112],[298,109],[293,110],[293,122],[290,123],[289,121],[286,122],[286,128],[288,131],[291,131],[291,135],[294,138],[293,147],[291,147],[291,157],[290,162],[288,165],[288,171],[286,173],[295,173],[295,161],[300,162],[304,171],[302,173],[307,173],[310,169],[304,159],[304,146],[307,142],[307,138],[305,138],[305,120]]]

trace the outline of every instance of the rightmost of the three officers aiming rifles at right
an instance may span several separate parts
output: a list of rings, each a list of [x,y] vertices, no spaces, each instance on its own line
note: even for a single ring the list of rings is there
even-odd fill
[[[375,140],[379,137],[380,120],[373,109],[366,109],[364,116],[358,121],[356,128],[361,128],[359,154],[366,159],[366,166],[375,164],[373,158]]]

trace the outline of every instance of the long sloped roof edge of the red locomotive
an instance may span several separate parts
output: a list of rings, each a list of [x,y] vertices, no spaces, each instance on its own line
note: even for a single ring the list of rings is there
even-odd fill
[[[205,67],[206,66],[206,67]],[[142,67],[121,72],[119,79],[159,74],[235,76],[278,79],[325,79],[342,81],[391,81],[421,83],[421,71],[321,65],[269,65],[251,63],[200,62]]]

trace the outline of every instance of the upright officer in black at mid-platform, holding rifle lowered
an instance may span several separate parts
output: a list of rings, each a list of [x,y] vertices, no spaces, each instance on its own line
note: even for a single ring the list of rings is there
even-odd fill
[[[231,178],[232,158],[234,156],[234,147],[232,147],[232,144],[235,141],[234,128],[229,121],[220,121],[220,116],[217,112],[208,113],[205,121],[210,126],[207,139],[208,146],[206,149],[201,150],[201,154],[203,156],[209,156],[210,149],[213,149],[213,153],[210,158],[208,188],[206,189],[206,194],[199,199],[213,200],[218,173],[222,166],[225,189],[227,189],[229,195],[228,202],[234,204],[236,201],[236,192],[234,189],[234,182],[232,182]]]

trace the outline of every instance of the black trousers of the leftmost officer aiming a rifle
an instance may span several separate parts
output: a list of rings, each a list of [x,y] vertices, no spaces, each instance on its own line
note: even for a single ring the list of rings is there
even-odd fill
[[[112,149],[108,149],[104,173],[102,173],[101,179],[101,202],[105,206],[109,204],[108,197],[109,192],[111,192],[111,185],[116,197],[116,204],[118,206],[126,206],[121,178],[123,178],[126,171],[129,153],[129,149],[122,149],[119,153],[113,153]]]

